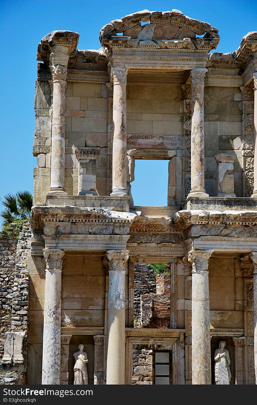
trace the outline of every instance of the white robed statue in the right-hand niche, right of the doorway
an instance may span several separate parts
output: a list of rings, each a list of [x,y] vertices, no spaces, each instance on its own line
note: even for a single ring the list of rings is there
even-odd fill
[[[229,385],[231,372],[229,368],[230,358],[228,350],[225,349],[226,342],[219,342],[219,349],[215,350],[215,385]]]

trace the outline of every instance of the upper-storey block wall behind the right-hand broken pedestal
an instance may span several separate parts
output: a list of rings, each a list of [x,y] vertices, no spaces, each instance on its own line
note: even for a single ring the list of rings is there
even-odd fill
[[[239,87],[204,87],[205,189],[217,196],[215,155],[235,154],[234,186],[243,196],[242,100]]]

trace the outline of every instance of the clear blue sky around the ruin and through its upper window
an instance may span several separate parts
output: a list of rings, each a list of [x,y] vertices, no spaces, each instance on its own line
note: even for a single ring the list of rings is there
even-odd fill
[[[2,40],[1,69],[1,186],[0,198],[18,190],[33,192],[32,156],[34,134],[34,81],[36,80],[36,49],[41,38],[53,30],[79,32],[79,49],[98,49],[99,31],[113,19],[148,9],[181,10],[189,17],[210,23],[219,29],[221,40],[217,51],[232,52],[249,31],[257,31],[257,6],[254,0],[244,1],[0,1]],[[136,205],[167,205],[167,162],[157,169],[144,161],[136,162],[135,175],[140,182],[132,183]],[[152,162],[153,164],[153,162]],[[143,190],[142,190],[143,187]],[[0,207],[1,209],[2,207]]]

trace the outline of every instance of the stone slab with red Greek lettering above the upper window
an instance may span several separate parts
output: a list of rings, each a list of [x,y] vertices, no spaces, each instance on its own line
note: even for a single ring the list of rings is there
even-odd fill
[[[177,149],[183,148],[183,136],[127,134],[129,148]]]

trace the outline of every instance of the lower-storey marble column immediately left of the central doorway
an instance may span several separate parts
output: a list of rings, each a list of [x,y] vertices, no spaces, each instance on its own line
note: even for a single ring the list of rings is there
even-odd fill
[[[108,250],[108,348],[106,384],[125,384],[125,262],[128,250]]]

